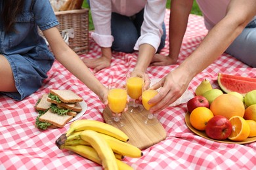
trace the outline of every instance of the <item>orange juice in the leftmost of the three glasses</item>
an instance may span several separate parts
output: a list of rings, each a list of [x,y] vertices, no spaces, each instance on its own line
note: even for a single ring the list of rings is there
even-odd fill
[[[127,102],[127,91],[121,88],[114,88],[108,92],[108,107],[112,112],[122,112]]]

